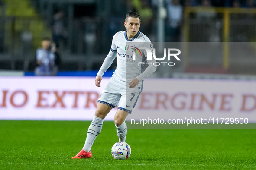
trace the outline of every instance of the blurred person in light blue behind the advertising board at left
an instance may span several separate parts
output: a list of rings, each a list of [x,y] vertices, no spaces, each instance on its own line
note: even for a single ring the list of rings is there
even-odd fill
[[[55,55],[51,49],[49,38],[42,40],[42,48],[36,51],[36,63],[39,65],[35,69],[36,76],[56,76],[58,68],[54,63]]]

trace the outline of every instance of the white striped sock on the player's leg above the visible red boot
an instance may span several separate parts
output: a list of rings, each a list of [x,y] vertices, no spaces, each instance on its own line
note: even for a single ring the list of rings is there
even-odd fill
[[[84,151],[86,151],[86,152],[91,151],[91,146],[92,146],[94,140],[100,134],[103,120],[104,119],[94,116],[94,118],[91,122],[91,125],[89,126],[88,132],[87,132],[85,144],[83,147]]]

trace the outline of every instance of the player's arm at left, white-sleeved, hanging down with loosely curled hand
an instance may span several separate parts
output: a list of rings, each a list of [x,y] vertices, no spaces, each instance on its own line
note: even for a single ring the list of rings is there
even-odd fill
[[[115,35],[113,36],[111,50],[107,54],[107,57],[105,58],[104,62],[102,63],[102,66],[100,67],[99,72],[97,73],[96,79],[95,79],[95,85],[97,87],[100,87],[100,82],[102,80],[103,74],[107,71],[107,69],[111,66],[115,58],[117,57],[117,47],[115,45]]]

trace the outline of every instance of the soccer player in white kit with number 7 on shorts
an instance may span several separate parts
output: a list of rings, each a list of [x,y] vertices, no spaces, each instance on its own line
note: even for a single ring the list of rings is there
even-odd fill
[[[120,142],[125,142],[127,134],[127,126],[125,123],[126,116],[132,112],[139,94],[143,88],[143,79],[156,71],[156,66],[149,65],[143,72],[141,65],[130,60],[131,55],[127,55],[128,51],[133,52],[137,48],[126,46],[126,42],[134,42],[134,44],[143,42],[149,44],[147,47],[152,50],[152,44],[146,35],[139,31],[140,16],[137,12],[130,11],[126,14],[124,26],[126,31],[117,32],[113,36],[111,50],[105,58],[95,79],[95,85],[100,87],[100,82],[104,72],[110,67],[114,59],[117,57],[117,69],[107,83],[107,86],[100,94],[95,116],[89,126],[87,137],[83,149],[72,159],[91,157],[91,147],[100,134],[103,120],[112,108],[115,108],[120,101],[117,113],[114,116],[114,123],[117,127],[117,136]],[[138,49],[137,49],[138,50]],[[142,50],[143,55],[136,56],[136,60],[145,62],[146,50]],[[152,57],[152,63],[156,60]]]

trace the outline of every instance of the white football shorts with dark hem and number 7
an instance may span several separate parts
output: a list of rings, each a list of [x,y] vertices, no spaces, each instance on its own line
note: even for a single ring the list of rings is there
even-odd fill
[[[139,94],[140,92],[134,91],[133,88],[123,88],[108,82],[107,86],[100,94],[98,102],[115,108],[120,101],[118,109],[124,110],[127,113],[132,113],[139,98]]]

